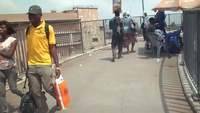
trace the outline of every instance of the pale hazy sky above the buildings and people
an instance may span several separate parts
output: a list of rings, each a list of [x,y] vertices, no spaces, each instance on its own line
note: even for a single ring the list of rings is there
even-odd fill
[[[144,0],[145,12],[154,14],[152,8],[160,0]],[[100,19],[111,18],[112,0],[0,0],[0,14],[26,13],[29,6],[40,5],[43,12],[72,9],[74,6],[97,7]],[[131,16],[142,15],[142,0],[122,0],[122,11],[129,12]]]

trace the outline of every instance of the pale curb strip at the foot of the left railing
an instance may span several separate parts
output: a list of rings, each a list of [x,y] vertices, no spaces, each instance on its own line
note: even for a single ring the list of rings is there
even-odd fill
[[[85,53],[81,53],[81,54],[77,54],[77,55],[74,55],[74,56],[70,56],[70,57],[65,58],[65,59],[63,59],[63,60],[60,60],[60,63],[62,64],[62,63],[64,63],[64,62],[66,62],[66,61],[69,61],[69,60],[72,60],[72,59],[75,59],[75,58],[78,58],[78,57],[81,57],[81,56],[84,56],[84,55],[93,53],[93,52],[95,52],[95,51],[98,51],[98,50],[101,50],[101,49],[104,49],[104,48],[107,48],[107,47],[110,47],[110,46],[111,46],[111,45],[101,46],[101,47],[97,47],[97,48],[94,48],[94,49],[92,49],[92,50],[89,50],[89,51],[87,51],[87,52],[85,52]],[[24,83],[25,79],[26,79],[25,76],[22,77],[21,80],[19,80],[19,81],[17,82],[17,84],[22,84],[22,83]],[[8,85],[7,85],[7,87],[6,87],[6,90],[9,90]]]

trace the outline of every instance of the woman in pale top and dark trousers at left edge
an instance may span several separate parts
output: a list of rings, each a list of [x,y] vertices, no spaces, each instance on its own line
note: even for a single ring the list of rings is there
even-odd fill
[[[17,47],[17,39],[11,35],[15,30],[10,23],[0,21],[0,112],[9,113],[6,102],[6,81],[12,93],[22,97],[24,94],[17,89],[17,72],[15,69],[14,53]]]

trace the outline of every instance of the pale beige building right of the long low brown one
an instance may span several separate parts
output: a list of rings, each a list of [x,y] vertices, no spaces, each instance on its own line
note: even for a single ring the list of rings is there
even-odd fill
[[[84,50],[89,50],[104,43],[104,23],[98,20],[98,8],[74,7],[73,10],[65,10],[63,13],[76,15],[81,20]]]

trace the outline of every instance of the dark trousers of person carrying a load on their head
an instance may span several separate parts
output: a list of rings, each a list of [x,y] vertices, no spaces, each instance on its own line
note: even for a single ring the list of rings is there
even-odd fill
[[[123,36],[113,36],[112,43],[111,43],[113,59],[116,58],[116,48],[117,47],[118,47],[118,57],[121,57],[122,46],[123,46]]]

